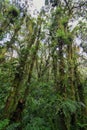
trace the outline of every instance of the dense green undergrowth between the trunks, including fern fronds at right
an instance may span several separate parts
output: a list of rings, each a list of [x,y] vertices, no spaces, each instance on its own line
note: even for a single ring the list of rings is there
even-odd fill
[[[22,127],[24,130],[57,130],[59,112],[62,109],[67,119],[77,113],[80,103],[64,100],[54,91],[53,83],[31,82],[30,93],[23,113]]]

